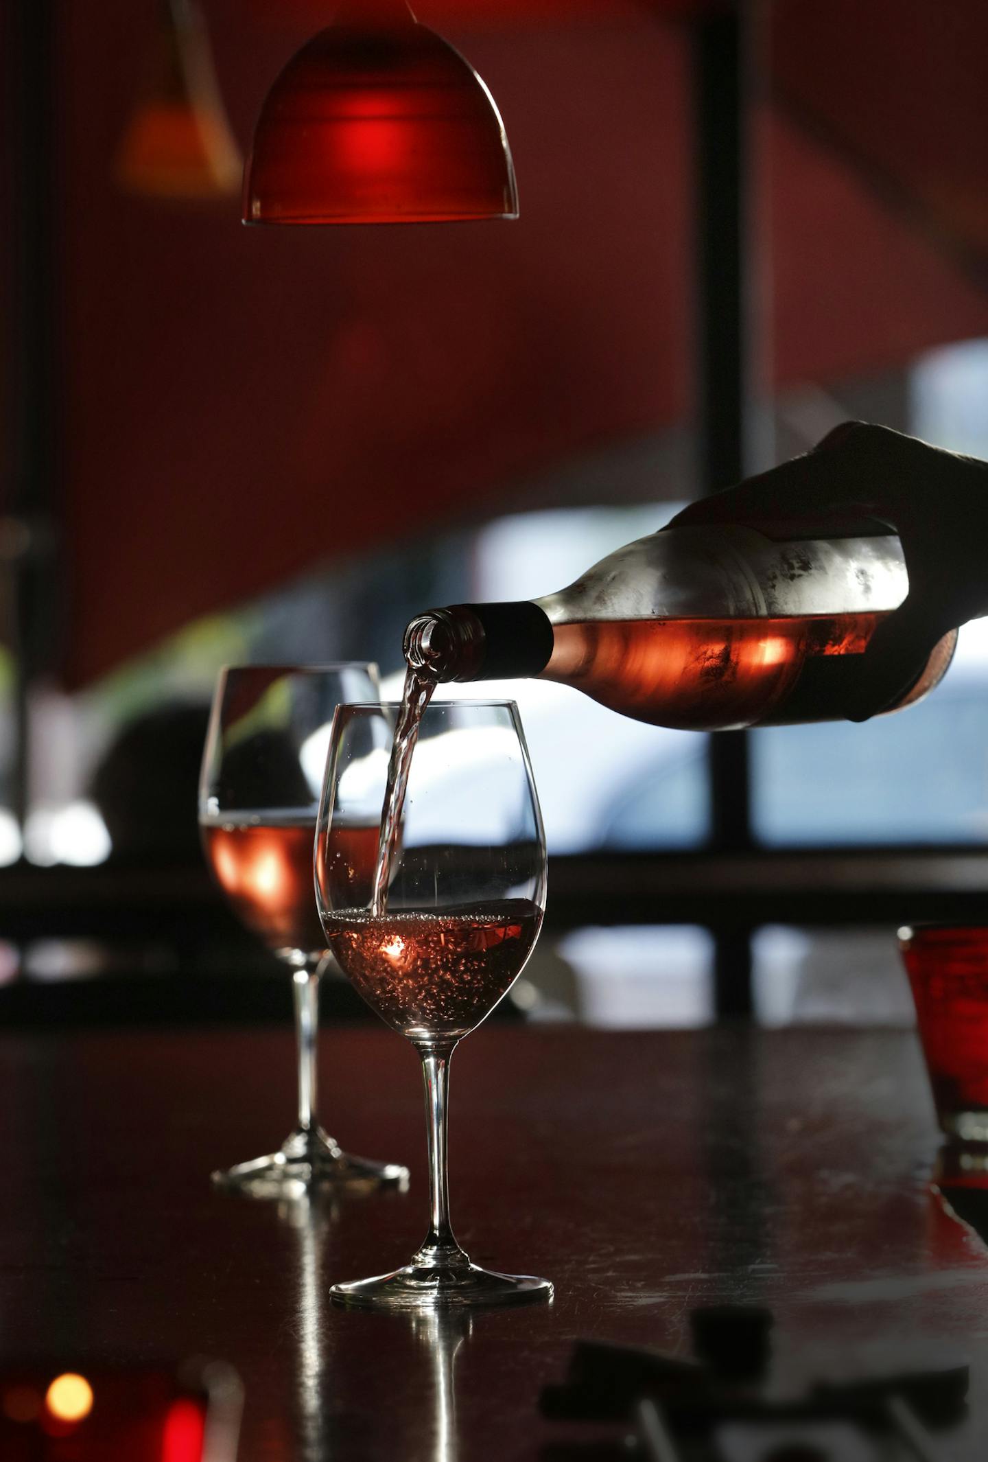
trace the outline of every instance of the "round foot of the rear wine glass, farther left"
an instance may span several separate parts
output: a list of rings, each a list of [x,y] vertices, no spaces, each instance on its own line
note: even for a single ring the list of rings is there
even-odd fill
[[[278,1152],[218,1168],[216,1187],[251,1197],[301,1197],[313,1189],[351,1189],[370,1192],[377,1187],[408,1187],[408,1168],[398,1162],[355,1158],[317,1132],[294,1132]]]

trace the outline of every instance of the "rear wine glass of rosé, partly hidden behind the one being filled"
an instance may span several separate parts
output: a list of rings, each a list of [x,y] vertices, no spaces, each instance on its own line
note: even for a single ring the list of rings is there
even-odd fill
[[[199,784],[206,861],[235,914],[292,971],[298,1126],[278,1152],[213,1173],[254,1196],[320,1184],[408,1183],[408,1170],[343,1152],[319,1123],[319,981],[332,956],[316,911],[313,844],[333,711],[379,694],[377,667],[228,665],[221,671]],[[354,893],[370,887],[377,816],[338,830]]]

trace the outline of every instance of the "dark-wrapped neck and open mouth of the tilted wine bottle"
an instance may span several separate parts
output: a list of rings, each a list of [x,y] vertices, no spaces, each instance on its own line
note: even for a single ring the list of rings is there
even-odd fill
[[[405,659],[438,681],[538,675],[551,654],[552,626],[538,604],[452,604],[405,630]]]

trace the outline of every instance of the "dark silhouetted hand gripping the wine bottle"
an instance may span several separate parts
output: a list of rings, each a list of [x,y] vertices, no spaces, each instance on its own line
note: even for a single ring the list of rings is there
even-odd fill
[[[674,526],[747,523],[794,538],[867,532],[862,519],[899,535],[909,594],[859,658],[855,721],[896,705],[949,630],[988,614],[988,463],[849,421],[805,456],[672,519]]]

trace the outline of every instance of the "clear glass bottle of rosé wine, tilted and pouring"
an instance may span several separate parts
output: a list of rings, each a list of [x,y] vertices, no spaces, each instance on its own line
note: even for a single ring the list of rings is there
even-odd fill
[[[846,716],[859,656],[908,591],[902,545],[875,525],[849,537],[665,528],[618,548],[558,594],[455,604],[405,632],[412,671],[436,681],[539,677],[653,725],[722,731]],[[943,678],[957,632],[919,652],[894,706]]]

